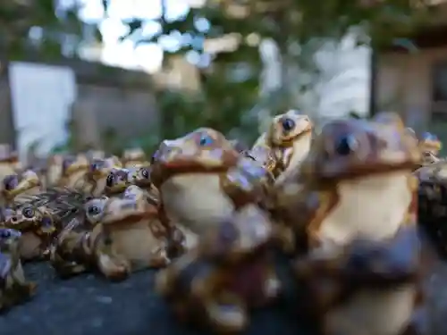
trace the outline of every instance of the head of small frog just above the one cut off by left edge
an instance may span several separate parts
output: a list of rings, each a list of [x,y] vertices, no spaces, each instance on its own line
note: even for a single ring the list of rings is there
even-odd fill
[[[4,226],[19,231],[33,230],[51,235],[56,230],[53,216],[43,207],[21,205],[4,209]]]

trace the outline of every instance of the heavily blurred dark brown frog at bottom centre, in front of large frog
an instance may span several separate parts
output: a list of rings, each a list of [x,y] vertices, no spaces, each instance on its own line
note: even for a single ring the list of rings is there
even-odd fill
[[[243,206],[159,272],[156,289],[181,320],[221,334],[243,331],[249,308],[264,306],[280,289],[267,249],[273,230],[257,205]]]

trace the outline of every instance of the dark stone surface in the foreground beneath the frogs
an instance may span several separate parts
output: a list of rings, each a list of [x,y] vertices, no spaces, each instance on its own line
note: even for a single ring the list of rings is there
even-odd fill
[[[27,264],[38,294],[0,316],[2,335],[194,335],[175,321],[153,288],[155,272],[111,283],[93,274],[55,278],[48,264]],[[274,308],[259,311],[247,334],[297,335],[291,318]]]

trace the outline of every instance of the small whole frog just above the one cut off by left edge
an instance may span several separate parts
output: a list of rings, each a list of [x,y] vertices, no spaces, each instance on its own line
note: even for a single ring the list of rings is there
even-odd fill
[[[4,208],[2,226],[21,232],[18,247],[23,261],[46,259],[57,230],[55,217],[45,207],[26,204]]]

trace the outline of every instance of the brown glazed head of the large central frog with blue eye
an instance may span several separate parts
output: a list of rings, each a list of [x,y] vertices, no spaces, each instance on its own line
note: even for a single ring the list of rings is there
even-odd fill
[[[173,175],[181,173],[219,173],[234,166],[239,153],[223,134],[200,128],[183,138],[164,140],[151,168],[156,188]]]

